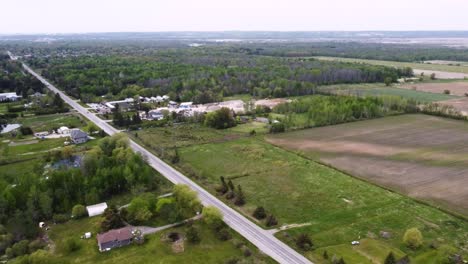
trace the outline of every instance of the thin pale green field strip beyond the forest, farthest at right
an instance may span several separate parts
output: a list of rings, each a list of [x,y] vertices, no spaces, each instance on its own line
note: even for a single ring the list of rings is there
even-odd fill
[[[428,70],[428,71],[468,73],[467,66],[382,61],[382,60],[366,60],[366,59],[353,59],[353,58],[340,58],[340,57],[314,57],[314,58],[319,59],[319,60],[332,60],[332,61],[338,60],[338,61],[343,61],[343,62],[367,63],[367,64],[383,65],[383,66],[390,66],[390,67],[411,67],[413,69],[421,69],[421,70]]]

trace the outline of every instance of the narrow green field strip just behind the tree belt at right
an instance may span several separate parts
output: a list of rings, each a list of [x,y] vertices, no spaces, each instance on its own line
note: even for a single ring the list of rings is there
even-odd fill
[[[468,83],[466,83],[468,85]],[[424,84],[418,84],[423,86]],[[454,95],[433,93],[425,91],[424,89],[413,90],[409,85],[395,85],[392,87],[385,86],[384,84],[343,84],[343,85],[330,85],[318,87],[321,91],[328,91],[339,95],[353,95],[353,96],[382,96],[391,95],[399,96],[407,99],[413,99],[421,103],[443,101],[457,98]]]

